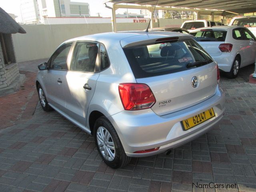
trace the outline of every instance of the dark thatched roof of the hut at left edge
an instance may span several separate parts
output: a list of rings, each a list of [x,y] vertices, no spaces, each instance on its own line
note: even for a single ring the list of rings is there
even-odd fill
[[[2,8],[0,8],[0,33],[26,33],[26,31]]]

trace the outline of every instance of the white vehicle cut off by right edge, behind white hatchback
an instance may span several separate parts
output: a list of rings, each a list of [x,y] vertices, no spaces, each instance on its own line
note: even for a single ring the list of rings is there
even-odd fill
[[[234,17],[229,25],[246,27],[256,36],[256,16]]]

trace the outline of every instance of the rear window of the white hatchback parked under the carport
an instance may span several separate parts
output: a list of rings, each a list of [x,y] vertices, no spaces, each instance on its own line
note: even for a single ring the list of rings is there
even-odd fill
[[[218,30],[191,32],[196,41],[225,41],[227,32]]]

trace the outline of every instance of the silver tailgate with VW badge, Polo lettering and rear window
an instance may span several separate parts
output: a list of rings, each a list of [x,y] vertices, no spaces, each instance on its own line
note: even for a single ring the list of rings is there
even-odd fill
[[[152,90],[156,98],[152,110],[160,116],[210,98],[217,87],[217,65],[202,47],[190,36],[169,39],[123,45],[137,83],[147,84]],[[151,57],[148,50],[156,44],[162,46],[161,51]]]

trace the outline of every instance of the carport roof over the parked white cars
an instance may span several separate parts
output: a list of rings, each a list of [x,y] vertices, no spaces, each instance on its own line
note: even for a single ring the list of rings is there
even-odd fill
[[[131,3],[139,5],[155,5],[156,0],[108,0],[113,4]],[[186,8],[200,8],[210,10],[248,10],[256,11],[256,0],[158,0],[158,6],[173,6]],[[245,11],[246,12],[246,11]]]

